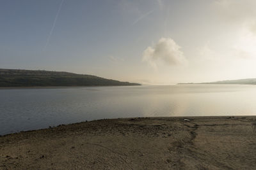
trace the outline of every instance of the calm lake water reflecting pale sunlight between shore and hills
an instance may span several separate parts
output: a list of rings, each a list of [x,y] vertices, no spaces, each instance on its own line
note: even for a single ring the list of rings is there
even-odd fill
[[[256,115],[256,86],[1,89],[0,134],[120,117]]]

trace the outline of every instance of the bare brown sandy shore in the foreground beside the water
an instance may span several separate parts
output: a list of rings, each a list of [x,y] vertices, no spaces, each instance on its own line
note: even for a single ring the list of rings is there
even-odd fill
[[[20,132],[0,137],[0,169],[256,169],[255,125],[256,117],[120,118]]]

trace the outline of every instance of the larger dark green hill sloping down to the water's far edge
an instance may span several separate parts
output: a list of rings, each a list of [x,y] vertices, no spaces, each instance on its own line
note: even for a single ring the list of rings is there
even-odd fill
[[[32,71],[24,69],[0,69],[0,87],[36,86],[126,86],[140,85],[109,80],[87,74],[60,71]]]

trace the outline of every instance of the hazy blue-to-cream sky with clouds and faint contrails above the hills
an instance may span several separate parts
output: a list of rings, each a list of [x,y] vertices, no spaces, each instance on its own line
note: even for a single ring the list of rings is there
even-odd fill
[[[148,85],[256,78],[254,0],[1,0],[0,68]]]

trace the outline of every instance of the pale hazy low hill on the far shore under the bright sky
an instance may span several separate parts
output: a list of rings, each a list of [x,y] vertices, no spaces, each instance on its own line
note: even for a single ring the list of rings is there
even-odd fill
[[[256,85],[256,78],[246,78],[246,79],[239,79],[239,80],[223,80],[223,81],[213,81],[207,83],[179,83],[179,85],[186,85],[186,84],[218,84],[218,85],[225,85],[225,84],[233,84],[233,85]]]

